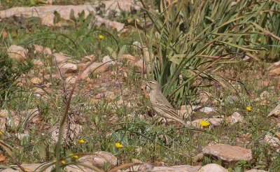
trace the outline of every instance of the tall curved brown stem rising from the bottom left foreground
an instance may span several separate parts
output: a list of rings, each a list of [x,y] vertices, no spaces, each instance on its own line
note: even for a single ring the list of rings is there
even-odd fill
[[[93,59],[92,62],[87,64],[87,66],[85,66],[85,69],[87,69],[93,62],[95,62],[95,59]],[[55,157],[56,157],[55,169],[56,169],[57,172],[60,171],[60,164],[59,164],[60,163],[60,148],[61,148],[61,145],[62,145],[62,143],[61,143],[62,142],[62,136],[64,134],[64,127],[65,127],[65,122],[66,122],[66,118],[67,118],[67,115],[68,115],[68,111],[69,111],[69,108],[70,108],[71,98],[72,98],[73,92],[76,88],[76,85],[80,81],[80,78],[81,78],[83,72],[85,71],[85,69],[83,69],[83,71],[79,73],[78,78],[76,79],[75,83],[73,84],[73,87],[71,89],[69,97],[66,101],[66,106],[65,106],[64,112],[62,114],[62,119],[59,122],[59,135],[58,135],[58,139],[57,139],[57,144],[55,145]]]

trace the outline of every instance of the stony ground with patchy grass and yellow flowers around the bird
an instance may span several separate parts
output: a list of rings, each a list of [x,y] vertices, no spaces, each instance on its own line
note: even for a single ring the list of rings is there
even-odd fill
[[[0,11],[1,49],[33,64],[1,103],[1,139],[10,150],[0,152],[1,168],[15,159],[27,171],[52,166],[58,123],[76,85],[61,162],[69,171],[81,171],[80,162],[105,171],[121,164],[126,171],[279,170],[279,62],[235,59],[213,73],[228,78],[224,85],[203,80],[191,106],[174,105],[188,114],[190,129],[160,123],[142,83],[151,72],[143,66],[147,50],[123,24],[132,1],[113,2],[105,1],[102,13],[99,4]],[[128,12],[113,21],[112,8]],[[4,171],[19,170],[13,167]]]

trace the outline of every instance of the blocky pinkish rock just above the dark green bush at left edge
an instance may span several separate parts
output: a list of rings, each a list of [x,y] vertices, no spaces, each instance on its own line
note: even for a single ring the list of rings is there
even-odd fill
[[[28,50],[18,45],[10,45],[10,48],[8,48],[8,56],[11,59],[20,60],[20,62],[25,61],[25,59],[27,58],[27,52]]]

